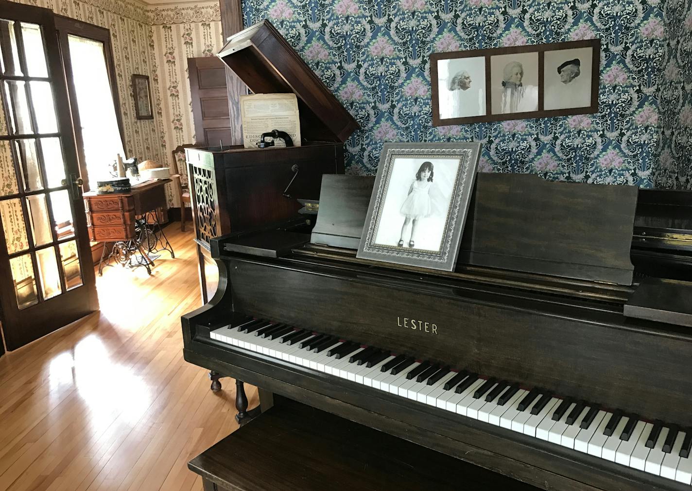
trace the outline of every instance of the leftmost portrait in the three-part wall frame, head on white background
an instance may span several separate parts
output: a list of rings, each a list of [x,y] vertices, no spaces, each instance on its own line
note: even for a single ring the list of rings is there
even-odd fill
[[[485,57],[438,60],[439,118],[485,115],[485,73]]]

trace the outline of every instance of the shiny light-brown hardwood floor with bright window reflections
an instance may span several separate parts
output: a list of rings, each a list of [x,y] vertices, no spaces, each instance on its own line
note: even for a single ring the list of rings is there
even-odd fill
[[[201,491],[187,463],[237,428],[235,383],[212,393],[183,360],[197,260],[192,232],[164,230],[176,259],[106,268],[100,312],[0,358],[0,490]]]

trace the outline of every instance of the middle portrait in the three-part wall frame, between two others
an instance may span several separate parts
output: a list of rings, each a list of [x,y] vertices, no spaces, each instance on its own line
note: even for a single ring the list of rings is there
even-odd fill
[[[538,53],[490,58],[493,114],[538,111]]]

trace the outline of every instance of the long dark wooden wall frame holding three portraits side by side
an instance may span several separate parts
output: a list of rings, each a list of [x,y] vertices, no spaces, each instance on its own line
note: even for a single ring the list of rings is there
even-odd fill
[[[600,62],[600,39],[432,53],[432,125],[597,113]]]

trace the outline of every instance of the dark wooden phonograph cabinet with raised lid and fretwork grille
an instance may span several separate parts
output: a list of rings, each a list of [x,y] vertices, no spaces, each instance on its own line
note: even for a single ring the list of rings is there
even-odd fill
[[[344,142],[358,129],[269,21],[230,37],[218,56],[253,93],[295,93],[302,145],[185,149],[205,303],[216,288],[206,274],[216,270],[209,240],[297,216],[298,198],[319,199],[322,174],[343,174]]]

